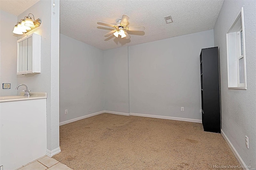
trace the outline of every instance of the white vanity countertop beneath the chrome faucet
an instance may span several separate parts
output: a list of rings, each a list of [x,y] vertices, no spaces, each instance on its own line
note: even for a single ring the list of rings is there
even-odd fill
[[[3,96],[3,97],[0,97],[0,102],[47,98],[47,93],[44,93],[44,92],[30,92],[30,95],[31,95],[30,97],[25,97],[23,95],[24,95],[24,92],[21,92],[20,96]]]

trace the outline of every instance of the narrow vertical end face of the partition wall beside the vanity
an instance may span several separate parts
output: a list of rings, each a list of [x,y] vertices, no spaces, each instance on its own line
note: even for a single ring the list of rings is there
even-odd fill
[[[59,140],[59,109],[60,109],[60,1],[51,0],[47,8],[51,9],[51,108],[50,117],[47,117],[48,139],[51,139],[51,146],[48,150],[54,150],[60,146]],[[55,4],[53,7],[52,4]],[[42,66],[42,65],[41,65]],[[50,132],[50,134],[49,134]],[[49,142],[48,142],[49,143]]]

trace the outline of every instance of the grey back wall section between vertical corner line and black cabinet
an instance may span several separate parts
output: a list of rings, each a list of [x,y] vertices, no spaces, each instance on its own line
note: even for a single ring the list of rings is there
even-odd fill
[[[200,52],[213,37],[209,30],[130,46],[130,112],[202,119]]]

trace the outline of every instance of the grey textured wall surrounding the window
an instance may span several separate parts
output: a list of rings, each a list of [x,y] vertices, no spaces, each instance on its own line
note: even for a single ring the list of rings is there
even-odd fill
[[[228,89],[226,32],[244,8],[247,90]],[[256,168],[256,1],[224,1],[214,28],[219,47],[222,130],[247,166]],[[245,136],[249,137],[249,149]]]

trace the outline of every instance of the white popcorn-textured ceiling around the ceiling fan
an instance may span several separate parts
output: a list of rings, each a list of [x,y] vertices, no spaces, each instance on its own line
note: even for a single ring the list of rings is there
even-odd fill
[[[100,49],[152,42],[214,28],[223,0],[61,0],[60,33]],[[144,26],[144,32],[129,32],[126,40],[104,37],[122,15],[129,26]],[[164,16],[173,23],[166,24]]]

